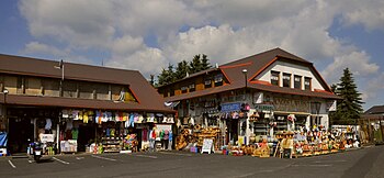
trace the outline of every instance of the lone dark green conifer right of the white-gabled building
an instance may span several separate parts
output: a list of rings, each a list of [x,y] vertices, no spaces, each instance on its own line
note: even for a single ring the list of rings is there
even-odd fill
[[[340,82],[337,84],[335,92],[341,97],[341,100],[337,103],[337,111],[330,114],[332,123],[357,123],[357,119],[359,119],[363,112],[361,104],[364,102],[362,102],[361,93],[358,92],[358,87],[354,84],[352,73],[349,68],[343,70],[343,75],[340,78]]]

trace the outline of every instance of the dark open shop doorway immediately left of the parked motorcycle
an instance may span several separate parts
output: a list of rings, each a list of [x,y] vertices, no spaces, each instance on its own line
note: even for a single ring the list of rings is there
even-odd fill
[[[34,141],[33,130],[34,125],[30,118],[9,118],[9,152],[26,153],[30,144],[27,140]]]

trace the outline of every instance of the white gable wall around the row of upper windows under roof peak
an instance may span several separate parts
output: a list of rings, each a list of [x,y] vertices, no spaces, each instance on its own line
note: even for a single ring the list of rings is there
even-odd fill
[[[262,71],[258,77],[256,77],[256,79],[270,82],[271,70],[287,73],[292,75],[298,75],[303,77],[309,77],[312,78],[312,91],[314,89],[325,90],[325,88],[320,85],[319,79],[315,78],[315,75],[310,71],[308,67],[285,63],[285,62],[273,63],[270,67],[268,67],[264,71]],[[291,81],[293,81],[293,78],[291,78]]]

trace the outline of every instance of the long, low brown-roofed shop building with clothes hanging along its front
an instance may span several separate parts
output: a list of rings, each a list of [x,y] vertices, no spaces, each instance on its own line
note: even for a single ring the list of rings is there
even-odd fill
[[[0,130],[8,131],[12,153],[26,151],[27,138],[41,133],[55,134],[57,145],[78,140],[83,151],[90,141],[121,142],[129,132],[142,140],[143,130],[173,122],[174,111],[136,70],[0,55]],[[104,148],[121,149],[115,146]]]

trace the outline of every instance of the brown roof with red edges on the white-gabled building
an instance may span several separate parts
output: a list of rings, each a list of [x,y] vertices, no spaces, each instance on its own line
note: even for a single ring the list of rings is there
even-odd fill
[[[319,78],[319,82],[323,85],[323,87],[326,90],[325,91],[305,91],[305,90],[297,90],[297,89],[271,86],[266,84],[257,84],[255,81],[250,81],[256,76],[261,74],[267,67],[273,64],[275,60],[284,60],[289,63],[295,63],[298,65],[307,66],[313,71],[313,74],[317,78]],[[244,88],[246,87],[246,85],[245,85],[245,76],[242,74],[242,69],[247,69],[247,74],[248,74],[247,86],[249,88],[255,88],[263,91],[279,92],[279,93],[290,93],[290,94],[319,97],[319,98],[328,98],[328,99],[340,99],[338,96],[331,92],[329,86],[326,84],[326,81],[321,78],[320,74],[313,66],[313,63],[309,63],[281,48],[273,48],[271,51],[267,51],[257,55],[245,57],[239,60],[227,63],[225,65],[219,66],[219,69],[222,69],[225,76],[228,78],[230,82],[229,85],[216,87],[214,89],[205,89],[205,90],[189,92],[180,96],[173,96],[173,97],[166,98],[166,100],[178,101],[178,100],[190,99],[194,97],[202,97],[210,93],[218,93],[223,91]],[[200,75],[211,70],[212,69],[201,71]]]

